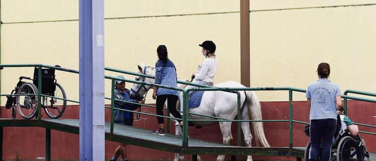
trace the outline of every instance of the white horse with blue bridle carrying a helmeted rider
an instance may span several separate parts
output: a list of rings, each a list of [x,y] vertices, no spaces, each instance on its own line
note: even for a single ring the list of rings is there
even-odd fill
[[[150,65],[138,65],[138,73],[146,74],[150,76],[155,76],[155,67]],[[136,80],[147,82],[147,83],[154,83],[154,79],[145,78],[136,76]],[[244,85],[241,85],[238,82],[228,81],[220,84],[214,85],[215,87],[235,87],[235,88],[243,88]],[[131,96],[143,96],[151,87],[134,84],[132,87]],[[184,87],[180,87],[184,88]],[[240,118],[241,120],[262,120],[261,116],[261,105],[253,91],[240,91]],[[247,98],[247,99],[246,99]],[[199,107],[197,108],[190,108],[189,112],[196,113],[196,114],[203,114],[209,115],[214,117],[221,117],[226,119],[233,119],[238,114],[238,100],[237,94],[229,93],[225,91],[206,91],[202,96],[202,101]],[[178,101],[176,104],[176,108],[180,110],[180,102]],[[189,115],[189,119],[199,119],[199,120],[215,120],[215,118],[208,118],[202,117],[197,115]],[[209,126],[214,125],[218,122],[192,122],[195,125],[200,126]],[[262,122],[252,122],[253,131],[255,134],[256,139],[256,146],[258,146],[258,141],[262,144],[262,146],[270,147],[268,141],[265,138],[264,128]],[[222,132],[223,143],[230,145],[231,141],[233,140],[231,134],[231,122],[219,122],[219,126]],[[252,142],[252,134],[250,131],[249,122],[241,122],[241,129],[244,134],[244,141],[247,147],[251,147]],[[179,134],[179,130],[176,130],[176,134]],[[179,160],[179,155],[175,155],[174,161]],[[223,161],[224,155],[219,155],[217,161]],[[252,156],[248,156],[247,161],[252,161]]]

